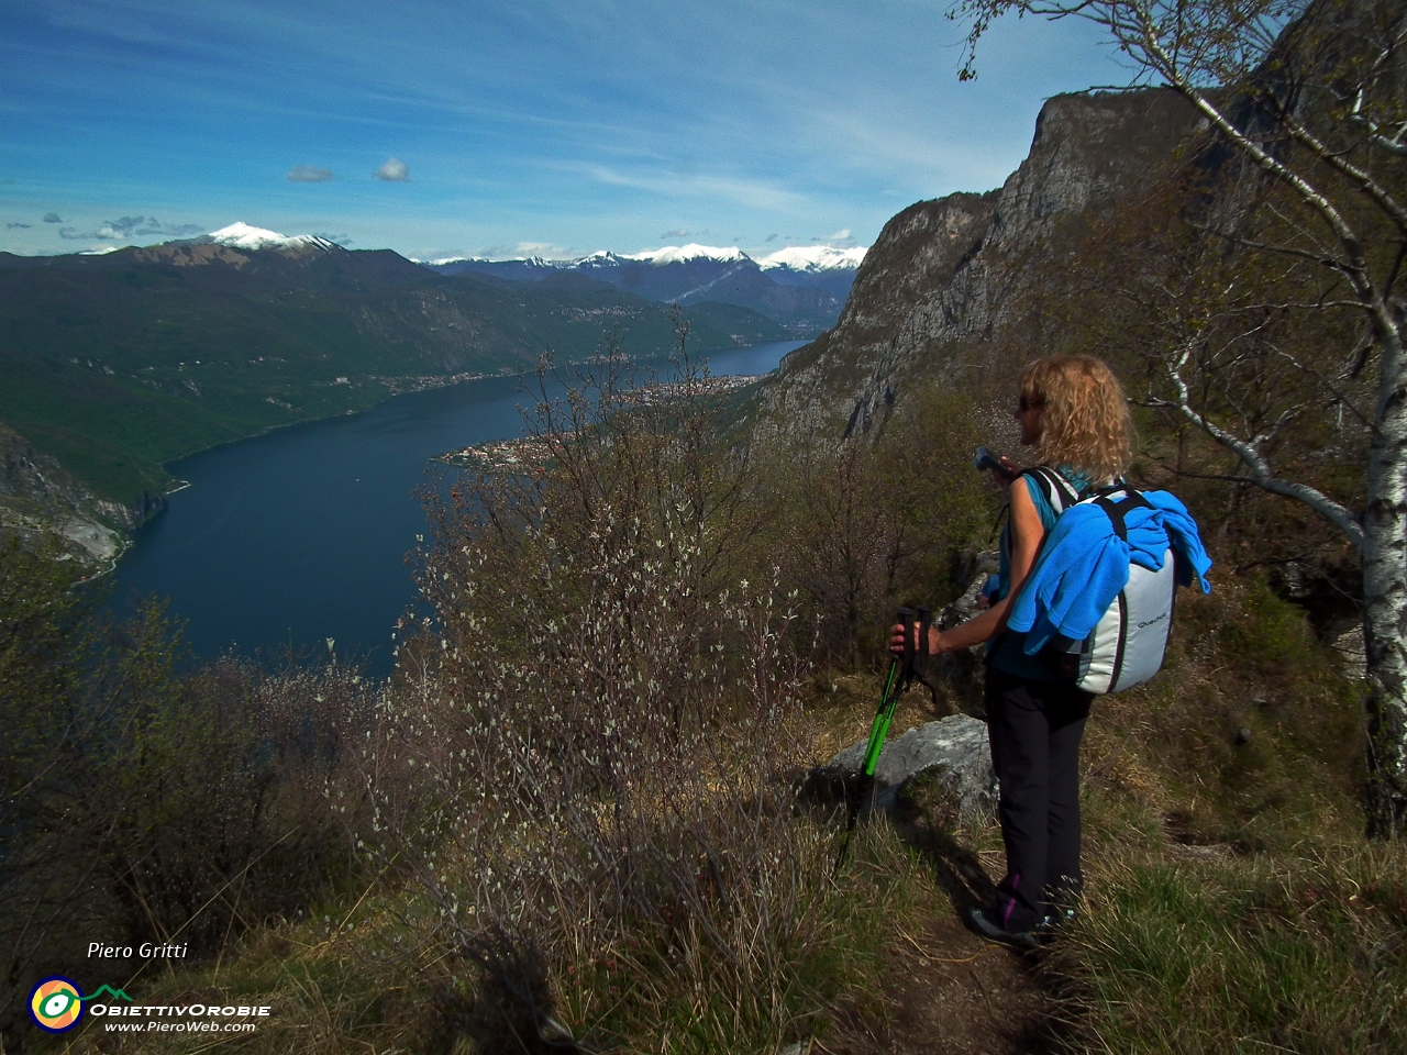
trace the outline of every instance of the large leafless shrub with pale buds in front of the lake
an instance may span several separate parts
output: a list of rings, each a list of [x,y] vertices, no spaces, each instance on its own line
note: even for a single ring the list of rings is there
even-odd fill
[[[376,826],[428,933],[542,1037],[774,1044],[827,947],[832,833],[792,792],[806,663],[777,573],[727,582],[758,520],[705,374],[685,362],[660,397],[623,366],[539,401],[540,474],[480,473],[433,509],[438,626],[402,646],[369,741],[397,789]]]

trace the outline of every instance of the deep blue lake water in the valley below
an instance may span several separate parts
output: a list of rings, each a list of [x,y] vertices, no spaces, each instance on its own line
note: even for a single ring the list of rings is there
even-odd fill
[[[715,374],[765,374],[803,342],[709,352]],[[339,658],[391,672],[391,630],[415,603],[405,554],[425,532],[428,460],[522,433],[518,378],[409,392],[366,414],[305,422],[169,468],[190,487],[135,535],[114,603],[170,598],[196,656],[235,650]]]

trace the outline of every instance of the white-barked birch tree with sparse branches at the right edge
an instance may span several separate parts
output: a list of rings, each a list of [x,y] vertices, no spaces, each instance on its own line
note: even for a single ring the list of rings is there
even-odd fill
[[[1407,7],[1393,0],[961,0],[969,25],[962,79],[975,76],[982,34],[1003,14],[1085,18],[1126,56],[1128,86],[1165,86],[1200,114],[1217,198],[1207,235],[1228,257],[1272,257],[1294,280],[1276,307],[1346,312],[1346,339],[1313,354],[1285,352],[1313,383],[1313,404],[1247,428],[1245,391],[1204,384],[1207,333],[1195,322],[1154,349],[1162,384],[1154,402],[1231,452],[1238,478],[1303,502],[1358,551],[1368,661],[1368,830],[1407,833]],[[1304,273],[1318,276],[1304,295]],[[1252,298],[1255,300],[1255,298]],[[1247,307],[1225,286],[1227,307]],[[1214,307],[1214,305],[1213,305]],[[1263,309],[1262,301],[1255,307]],[[1206,308],[1206,305],[1203,305]],[[1195,312],[1196,314],[1196,312]],[[1214,309],[1202,318],[1225,318]],[[1366,398],[1356,399],[1358,390]],[[1345,504],[1282,473],[1273,457],[1296,416],[1358,415],[1368,432],[1366,498]]]

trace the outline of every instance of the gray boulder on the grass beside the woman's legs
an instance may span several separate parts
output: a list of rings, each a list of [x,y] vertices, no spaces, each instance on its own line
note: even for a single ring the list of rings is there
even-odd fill
[[[864,762],[867,743],[868,737],[840,751],[820,772],[830,778],[853,776]],[[875,806],[893,809],[906,782],[933,772],[957,799],[964,817],[991,812],[996,806],[998,785],[986,723],[967,715],[950,715],[891,740],[875,765]]]

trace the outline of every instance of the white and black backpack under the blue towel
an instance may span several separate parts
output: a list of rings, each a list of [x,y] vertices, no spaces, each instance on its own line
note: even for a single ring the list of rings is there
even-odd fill
[[[1127,539],[1124,516],[1140,506],[1151,508],[1147,498],[1123,481],[1079,494],[1064,475],[1045,466],[1027,468],[1023,475],[1040,488],[1057,518],[1074,505],[1096,505],[1109,516],[1120,539]],[[1050,539],[1050,533],[1045,537]],[[1044,540],[1041,546],[1044,550]],[[1037,658],[1062,681],[1086,692],[1102,695],[1141,685],[1162,668],[1176,592],[1171,546],[1159,571],[1130,561],[1127,585],[1104,609],[1089,637],[1074,641],[1057,636]]]

